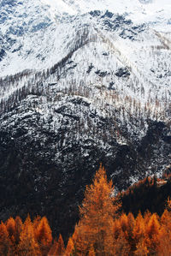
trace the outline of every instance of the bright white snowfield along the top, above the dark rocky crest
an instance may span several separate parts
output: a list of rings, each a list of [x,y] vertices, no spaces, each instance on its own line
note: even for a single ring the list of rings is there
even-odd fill
[[[137,21],[139,21],[139,18],[140,21],[156,20],[156,17],[162,17],[163,14],[166,19],[167,17],[170,18],[169,8],[171,7],[169,0],[41,0],[41,2],[50,6],[50,12],[53,12],[53,15],[62,15],[63,13],[77,15],[78,13],[84,14],[94,9],[102,11],[109,9],[114,13],[123,14],[127,12]],[[158,14],[160,12],[162,14]],[[168,15],[166,16],[166,14]]]

